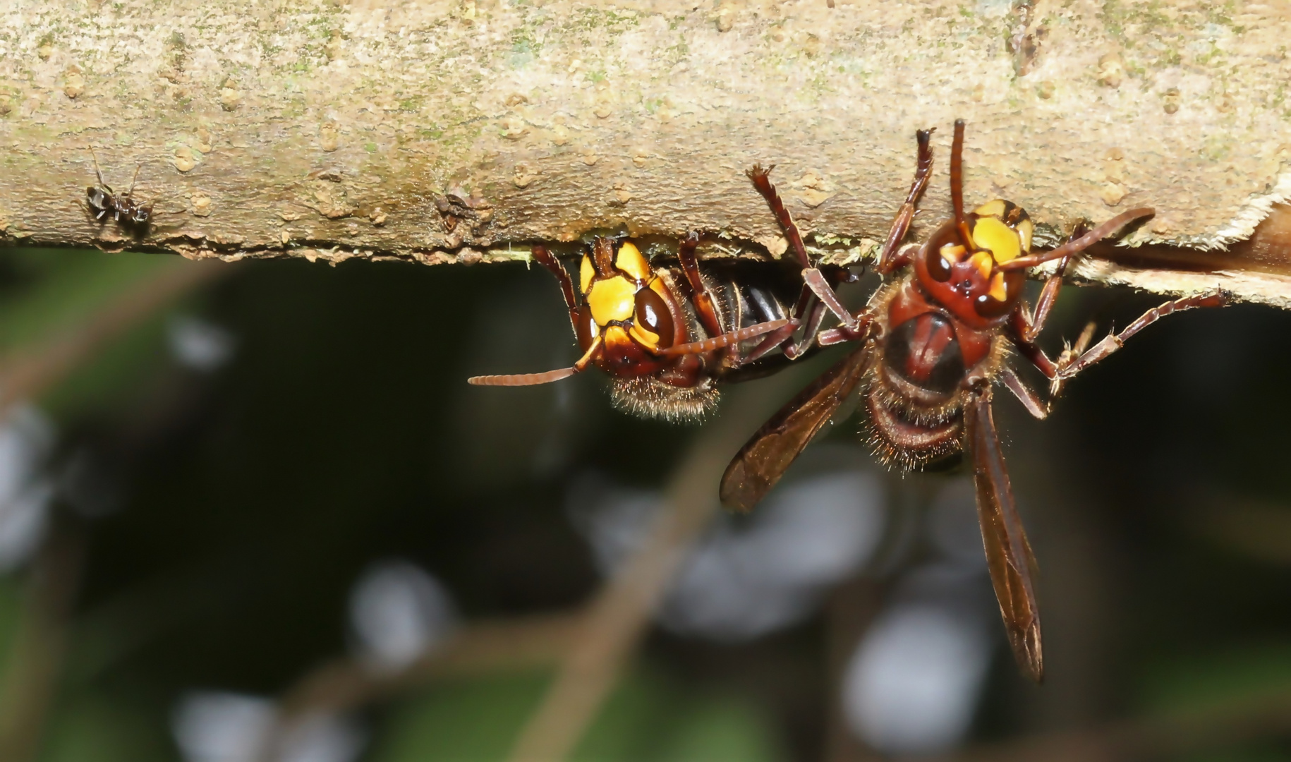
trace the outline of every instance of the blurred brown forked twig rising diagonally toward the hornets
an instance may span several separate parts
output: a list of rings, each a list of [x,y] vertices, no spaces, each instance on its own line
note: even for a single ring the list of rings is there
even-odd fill
[[[553,663],[560,663],[560,672],[515,753],[563,757],[582,736],[613,687],[622,663],[648,626],[689,544],[717,513],[717,483],[731,455],[771,413],[772,400],[800,381],[800,373],[782,373],[758,389],[733,395],[736,399],[728,412],[696,440],[670,482],[669,508],[661,513],[643,546],[586,608],[573,613],[471,623],[447,643],[396,672],[374,670],[354,659],[324,664],[279,700],[280,719],[274,737],[261,747],[263,758],[271,758],[276,741],[310,716],[358,709],[436,678]],[[522,747],[538,743],[546,750],[528,752]]]

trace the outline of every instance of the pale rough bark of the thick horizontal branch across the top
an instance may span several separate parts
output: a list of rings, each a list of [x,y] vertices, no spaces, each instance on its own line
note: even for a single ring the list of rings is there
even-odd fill
[[[778,254],[744,177],[763,161],[811,242],[856,258],[905,194],[914,130],[939,128],[944,170],[962,116],[968,199],[1059,231],[1153,205],[1131,243],[1223,249],[1291,195],[1288,18],[1232,0],[4,0],[0,240],[474,262],[700,229]],[[90,218],[89,146],[117,190],[142,164],[142,235]],[[923,208],[944,217],[944,172]],[[1081,275],[1288,306],[1278,257]]]

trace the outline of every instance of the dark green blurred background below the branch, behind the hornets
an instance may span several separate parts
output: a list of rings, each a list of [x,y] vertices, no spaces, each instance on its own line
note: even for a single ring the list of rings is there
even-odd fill
[[[174,284],[198,266],[0,251],[0,380],[37,380],[0,385],[6,759],[505,759],[696,437],[760,422],[635,420],[599,372],[467,386],[576,358],[538,269]],[[1068,288],[1043,344],[1157,302]],[[741,393],[773,408],[824,363]],[[1145,331],[1047,421],[997,395],[1042,687],[967,477],[835,425],[704,530],[572,758],[1291,759],[1287,387],[1291,315],[1234,306]]]

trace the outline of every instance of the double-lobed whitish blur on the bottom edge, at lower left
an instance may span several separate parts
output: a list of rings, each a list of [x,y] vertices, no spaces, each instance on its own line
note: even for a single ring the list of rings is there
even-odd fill
[[[346,718],[310,714],[287,728],[278,719],[269,699],[191,691],[176,706],[172,727],[186,762],[354,762],[363,752],[364,734]]]

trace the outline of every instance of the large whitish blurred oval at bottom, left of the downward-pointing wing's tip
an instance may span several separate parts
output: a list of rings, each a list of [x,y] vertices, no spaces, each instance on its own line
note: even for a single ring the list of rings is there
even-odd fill
[[[990,665],[985,630],[963,607],[920,602],[886,611],[844,673],[851,728],[888,754],[953,748],[968,732]]]

